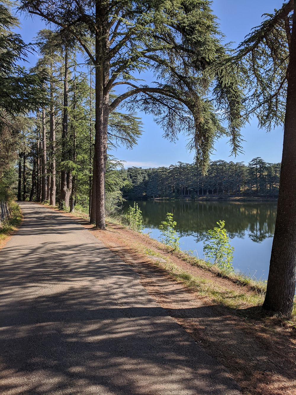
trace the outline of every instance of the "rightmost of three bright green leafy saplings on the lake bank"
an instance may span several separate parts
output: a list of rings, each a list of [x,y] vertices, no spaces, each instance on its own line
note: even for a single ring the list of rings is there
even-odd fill
[[[229,244],[225,221],[220,220],[217,225],[216,228],[208,231],[210,240],[204,241],[204,255],[214,265],[225,269],[233,269],[231,262],[234,247]]]

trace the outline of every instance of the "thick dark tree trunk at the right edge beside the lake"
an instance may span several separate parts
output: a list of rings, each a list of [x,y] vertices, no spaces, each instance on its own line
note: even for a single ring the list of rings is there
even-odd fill
[[[293,15],[279,200],[263,308],[290,316],[296,285],[296,12]],[[294,188],[295,187],[295,188]]]

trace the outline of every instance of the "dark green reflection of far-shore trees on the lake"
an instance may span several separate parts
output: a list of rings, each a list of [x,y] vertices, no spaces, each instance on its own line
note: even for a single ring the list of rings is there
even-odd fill
[[[158,228],[166,213],[174,214],[176,230],[181,237],[195,235],[196,241],[204,240],[208,229],[218,220],[225,220],[229,237],[245,238],[260,243],[273,237],[277,204],[275,202],[196,202],[196,201],[138,201],[144,225]],[[129,206],[126,202],[126,206]]]

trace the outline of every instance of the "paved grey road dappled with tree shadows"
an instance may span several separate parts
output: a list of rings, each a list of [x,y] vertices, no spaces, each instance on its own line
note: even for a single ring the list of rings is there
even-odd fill
[[[239,394],[89,231],[35,203],[21,209],[0,252],[2,395]]]

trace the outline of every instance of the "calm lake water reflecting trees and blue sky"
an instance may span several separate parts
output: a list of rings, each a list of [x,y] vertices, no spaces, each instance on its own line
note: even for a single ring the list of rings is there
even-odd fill
[[[225,220],[225,228],[234,247],[233,266],[236,271],[267,280],[272,238],[274,235],[276,202],[229,201],[137,201],[144,220],[144,233],[159,239],[159,225],[166,214],[173,213],[180,236],[180,248],[193,250],[200,258],[206,232]],[[127,201],[124,211],[133,202]]]

